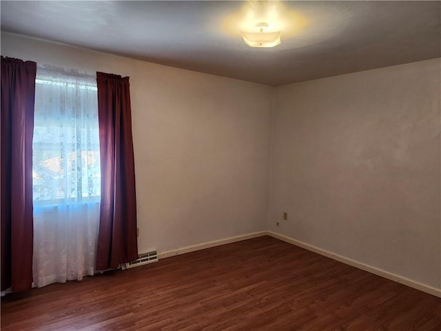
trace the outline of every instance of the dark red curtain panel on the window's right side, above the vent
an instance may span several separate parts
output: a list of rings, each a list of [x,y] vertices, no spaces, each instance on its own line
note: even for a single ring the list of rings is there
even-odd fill
[[[96,72],[101,211],[96,270],[138,259],[129,77]]]

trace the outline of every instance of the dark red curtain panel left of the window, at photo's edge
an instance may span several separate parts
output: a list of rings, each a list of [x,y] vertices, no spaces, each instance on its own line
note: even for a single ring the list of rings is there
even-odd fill
[[[32,286],[32,136],[37,63],[1,57],[1,290]]]

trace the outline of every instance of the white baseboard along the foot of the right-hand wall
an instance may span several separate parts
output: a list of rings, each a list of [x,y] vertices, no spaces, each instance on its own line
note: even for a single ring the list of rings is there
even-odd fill
[[[308,243],[303,243],[302,241],[298,241],[296,239],[286,237],[283,234],[278,234],[278,233],[271,232],[271,231],[268,231],[267,234],[271,237],[276,238],[276,239],[280,239],[282,241],[286,241],[287,243],[291,243],[291,244],[296,245],[298,247],[305,248],[305,250],[310,250],[311,252],[318,253],[318,254],[323,255],[325,257],[329,257],[331,259],[340,261],[342,263],[346,263],[346,264],[351,265],[353,267],[356,267],[358,269],[365,270],[367,272],[371,272],[372,274],[376,274],[380,277],[390,279],[391,281],[396,281],[397,283],[407,285],[411,288],[415,288],[416,290],[420,290],[422,292],[432,294],[435,297],[441,298],[441,289],[439,289],[439,288],[433,288],[429,285],[424,285],[422,283],[418,283],[418,281],[413,281],[412,279],[402,277],[398,274],[393,274],[391,272],[387,272],[387,271],[372,267],[371,265],[367,265],[365,263],[361,263],[361,262],[358,262],[358,261],[355,261],[352,259],[348,259],[347,257],[342,257],[341,255],[334,254],[332,252],[328,252],[327,250],[322,250],[321,248],[318,248],[314,245],[309,245]]]

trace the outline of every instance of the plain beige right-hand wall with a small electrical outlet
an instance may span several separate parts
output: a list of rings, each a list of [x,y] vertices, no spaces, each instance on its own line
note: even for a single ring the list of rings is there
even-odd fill
[[[440,72],[276,88],[269,230],[440,289]]]

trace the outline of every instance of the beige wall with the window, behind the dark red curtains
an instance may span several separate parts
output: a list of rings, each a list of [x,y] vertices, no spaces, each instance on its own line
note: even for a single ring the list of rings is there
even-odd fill
[[[266,230],[273,88],[7,33],[1,54],[130,76],[141,252]]]

